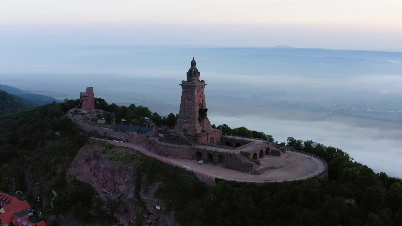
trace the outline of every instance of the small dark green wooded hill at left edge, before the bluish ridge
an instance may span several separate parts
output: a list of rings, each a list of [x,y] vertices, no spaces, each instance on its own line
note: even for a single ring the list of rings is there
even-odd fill
[[[0,115],[24,111],[33,108],[23,99],[0,90]]]

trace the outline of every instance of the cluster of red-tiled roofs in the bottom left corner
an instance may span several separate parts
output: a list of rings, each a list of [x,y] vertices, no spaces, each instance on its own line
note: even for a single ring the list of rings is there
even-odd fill
[[[0,191],[0,226],[46,226],[45,221],[29,221],[34,211],[27,200],[21,201]]]

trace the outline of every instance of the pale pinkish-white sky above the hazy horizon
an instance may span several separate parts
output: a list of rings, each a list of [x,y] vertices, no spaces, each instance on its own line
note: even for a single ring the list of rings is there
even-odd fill
[[[0,0],[0,41],[402,51],[402,0]]]

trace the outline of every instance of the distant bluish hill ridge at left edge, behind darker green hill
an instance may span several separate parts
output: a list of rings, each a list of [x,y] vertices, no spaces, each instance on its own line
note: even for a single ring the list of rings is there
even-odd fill
[[[60,102],[59,100],[53,98],[53,97],[48,97],[45,95],[39,95],[35,93],[30,93],[26,92],[24,90],[21,90],[19,88],[13,87],[13,86],[7,86],[0,84],[0,90],[4,90],[8,92],[9,94],[16,95],[21,98],[21,100],[27,102],[29,105],[33,106],[41,106],[45,104],[52,103],[53,101]]]

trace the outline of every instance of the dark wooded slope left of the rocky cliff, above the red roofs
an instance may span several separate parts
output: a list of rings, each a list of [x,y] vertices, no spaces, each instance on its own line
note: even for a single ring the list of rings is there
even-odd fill
[[[107,204],[90,185],[66,181],[66,170],[72,158],[88,138],[85,131],[79,131],[64,116],[68,109],[76,106],[74,101],[70,104],[52,103],[0,117],[0,191],[26,193],[33,209],[47,213],[48,225],[59,225],[48,221],[58,214],[72,214],[76,220],[90,222],[115,222],[113,211],[98,208]],[[57,136],[55,131],[61,134]],[[68,194],[62,206],[50,207],[49,185],[59,188],[61,196]],[[97,211],[91,213],[95,208]]]

